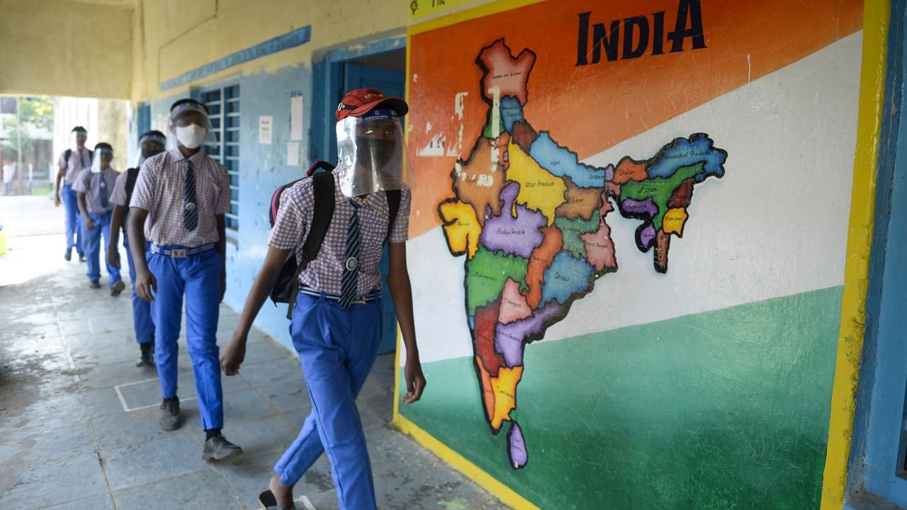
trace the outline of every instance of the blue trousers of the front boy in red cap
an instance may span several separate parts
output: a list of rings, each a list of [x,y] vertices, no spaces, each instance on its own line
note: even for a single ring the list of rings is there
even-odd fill
[[[305,373],[312,411],[274,472],[295,485],[327,453],[341,509],[375,508],[375,485],[356,396],[381,346],[381,299],[343,309],[298,294],[289,332]]]

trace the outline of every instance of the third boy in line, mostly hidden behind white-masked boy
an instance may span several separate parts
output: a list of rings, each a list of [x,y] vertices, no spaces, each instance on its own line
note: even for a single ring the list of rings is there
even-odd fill
[[[135,165],[126,172],[122,172],[113,186],[111,201],[114,204],[111,216],[111,237],[107,246],[107,263],[113,268],[120,269],[119,238],[120,230],[123,233],[123,246],[126,247],[126,261],[129,263],[129,277],[132,281],[132,326],[135,330],[135,339],[139,343],[141,356],[136,362],[136,367],[153,367],[152,356],[154,348],[154,322],[151,320],[151,303],[141,299],[135,291],[135,264],[132,262],[132,250],[129,247],[129,236],[126,235],[126,218],[129,214],[129,201],[135,181],[139,177],[141,163],[145,160],[164,152],[167,139],[162,132],[150,131],[139,137],[139,152]]]

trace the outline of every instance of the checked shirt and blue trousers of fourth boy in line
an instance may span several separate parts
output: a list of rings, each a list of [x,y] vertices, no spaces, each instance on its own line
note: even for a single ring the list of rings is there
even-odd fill
[[[117,175],[119,174],[112,167],[107,167],[97,173],[86,168],[73,182],[73,191],[85,193],[88,215],[94,222],[93,230],[88,230],[84,221],[82,222],[82,244],[85,259],[88,261],[88,280],[91,281],[101,278],[101,238],[103,237],[106,247],[111,235],[111,213],[113,211],[110,194],[113,185],[116,184]],[[113,288],[118,281],[122,280],[120,270],[112,267],[107,261],[107,257],[103,259],[109,277],[107,285]]]

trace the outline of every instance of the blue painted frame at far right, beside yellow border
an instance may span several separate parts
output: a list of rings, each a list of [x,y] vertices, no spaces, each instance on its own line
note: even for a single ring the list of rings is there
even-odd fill
[[[892,1],[847,507],[907,507],[907,0]]]

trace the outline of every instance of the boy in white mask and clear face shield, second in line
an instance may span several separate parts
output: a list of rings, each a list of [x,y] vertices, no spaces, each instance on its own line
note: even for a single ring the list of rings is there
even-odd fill
[[[177,338],[185,295],[186,343],[206,434],[202,456],[219,460],[242,453],[220,433],[223,391],[216,335],[227,282],[224,213],[230,208],[229,175],[200,150],[203,142],[216,142],[203,104],[177,101],[170,120],[178,146],[142,163],[132,191],[127,224],[135,291],[154,302],[154,357],[163,393],[164,430],[182,425]]]

